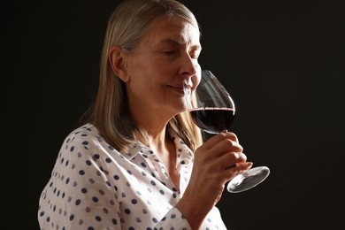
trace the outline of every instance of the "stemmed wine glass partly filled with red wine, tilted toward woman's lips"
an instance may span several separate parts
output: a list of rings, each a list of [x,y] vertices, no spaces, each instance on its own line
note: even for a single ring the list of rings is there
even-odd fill
[[[186,103],[196,126],[208,134],[227,132],[234,121],[234,101],[226,88],[209,70],[202,70],[201,81],[196,88],[195,101],[191,101],[190,91],[185,90]],[[232,165],[228,168],[234,167]],[[227,184],[227,191],[239,193],[257,186],[270,173],[266,166],[257,166],[238,174]]]

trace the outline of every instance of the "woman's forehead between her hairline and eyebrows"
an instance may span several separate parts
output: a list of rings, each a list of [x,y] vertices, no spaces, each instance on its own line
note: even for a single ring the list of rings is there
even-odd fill
[[[155,19],[142,42],[154,46],[159,42],[173,41],[180,44],[200,46],[199,29],[178,17]]]

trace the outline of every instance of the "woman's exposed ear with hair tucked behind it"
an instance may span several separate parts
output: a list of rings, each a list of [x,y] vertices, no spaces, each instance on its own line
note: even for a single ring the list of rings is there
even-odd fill
[[[109,63],[111,64],[112,71],[125,82],[129,81],[129,76],[126,71],[125,53],[118,45],[111,46],[109,50]]]

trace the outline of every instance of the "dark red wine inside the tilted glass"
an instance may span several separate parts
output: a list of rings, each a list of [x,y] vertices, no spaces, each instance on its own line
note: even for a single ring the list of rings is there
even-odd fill
[[[197,108],[190,111],[196,126],[209,134],[229,130],[234,121],[234,110],[230,108]]]

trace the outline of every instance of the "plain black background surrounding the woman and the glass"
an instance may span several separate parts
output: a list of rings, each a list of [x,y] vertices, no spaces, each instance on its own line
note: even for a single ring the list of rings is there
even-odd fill
[[[202,27],[200,64],[237,103],[233,131],[250,161],[271,168],[256,188],[225,191],[218,206],[226,226],[344,229],[341,1],[183,3]],[[96,92],[103,34],[117,4],[0,6],[5,229],[39,229],[39,196],[65,135]]]

